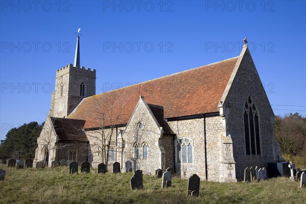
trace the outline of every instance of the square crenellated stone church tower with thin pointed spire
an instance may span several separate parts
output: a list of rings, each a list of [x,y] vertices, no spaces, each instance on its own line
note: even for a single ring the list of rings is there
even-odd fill
[[[67,117],[85,97],[95,95],[96,70],[80,65],[80,29],[75,48],[74,65],[56,71],[55,91],[52,93],[51,117]]]

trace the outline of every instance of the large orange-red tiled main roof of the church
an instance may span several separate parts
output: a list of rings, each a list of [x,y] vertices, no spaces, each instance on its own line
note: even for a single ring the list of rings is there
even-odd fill
[[[238,57],[84,98],[68,118],[86,120],[85,129],[126,124],[143,95],[173,118],[219,112],[218,103]]]

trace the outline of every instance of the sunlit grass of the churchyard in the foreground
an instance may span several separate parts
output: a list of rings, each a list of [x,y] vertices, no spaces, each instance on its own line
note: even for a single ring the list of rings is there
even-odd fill
[[[132,173],[68,174],[68,167],[14,169],[6,166],[0,181],[0,203],[304,203],[306,188],[279,177],[254,183],[201,181],[199,197],[187,197],[187,180],[172,178],[161,189],[161,179],[143,176],[143,190],[131,190]]]

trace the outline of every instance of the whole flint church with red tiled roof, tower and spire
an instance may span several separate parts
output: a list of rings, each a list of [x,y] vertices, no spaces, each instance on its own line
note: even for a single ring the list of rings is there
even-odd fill
[[[281,157],[274,114],[247,42],[239,56],[140,84],[95,93],[96,70],[74,65],[56,71],[56,88],[36,162],[114,162],[201,180],[237,182],[249,166]]]

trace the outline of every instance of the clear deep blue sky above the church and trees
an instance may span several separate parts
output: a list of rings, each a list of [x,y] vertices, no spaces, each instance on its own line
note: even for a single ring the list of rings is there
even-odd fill
[[[97,70],[96,93],[236,57],[247,36],[274,114],[305,117],[305,1],[0,6],[0,139],[10,127],[45,120],[56,70],[73,63],[78,28],[81,65]]]

